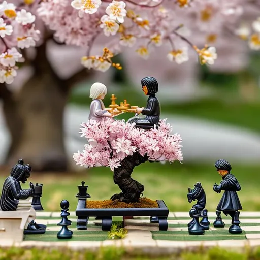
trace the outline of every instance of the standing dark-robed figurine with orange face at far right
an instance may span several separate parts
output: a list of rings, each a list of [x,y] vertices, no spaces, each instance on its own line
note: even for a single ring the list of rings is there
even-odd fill
[[[215,167],[217,168],[217,172],[222,176],[223,180],[219,185],[215,183],[213,190],[217,193],[224,190],[224,194],[217,206],[217,217],[213,225],[215,228],[223,228],[225,226],[225,223],[221,218],[221,211],[223,211],[226,216],[230,215],[232,217],[232,225],[229,228],[229,232],[232,234],[242,233],[242,229],[239,226],[240,212],[238,211],[242,209],[242,206],[237,195],[237,191],[241,190],[239,182],[235,176],[230,173],[232,167],[228,161],[224,159],[217,160]]]

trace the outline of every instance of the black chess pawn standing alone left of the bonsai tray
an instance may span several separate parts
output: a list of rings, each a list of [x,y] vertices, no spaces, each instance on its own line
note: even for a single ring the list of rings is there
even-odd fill
[[[67,200],[63,200],[60,203],[61,207],[61,214],[62,217],[61,221],[57,224],[62,226],[61,230],[57,234],[58,239],[70,239],[72,238],[73,231],[68,229],[68,226],[71,225],[71,220],[68,219],[70,216],[69,210],[70,203]]]

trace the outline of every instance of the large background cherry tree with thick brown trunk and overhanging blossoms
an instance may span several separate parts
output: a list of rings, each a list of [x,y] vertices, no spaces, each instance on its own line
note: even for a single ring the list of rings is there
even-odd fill
[[[181,64],[195,56],[209,66],[217,59],[214,45],[230,34],[259,50],[259,18],[250,17],[250,26],[243,23],[248,5],[259,8],[257,0],[3,1],[0,96],[12,137],[11,163],[22,154],[35,169],[66,169],[62,115],[71,87],[86,77],[86,68],[121,70],[113,58],[127,48],[148,59],[156,48],[167,46],[166,62]],[[85,50],[82,70],[61,79],[46,56],[49,41]],[[100,41],[103,48],[93,53]],[[27,64],[34,74],[14,94],[8,85]]]

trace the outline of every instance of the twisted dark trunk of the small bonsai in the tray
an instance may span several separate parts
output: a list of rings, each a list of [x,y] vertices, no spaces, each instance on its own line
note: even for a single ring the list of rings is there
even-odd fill
[[[127,156],[121,162],[121,166],[114,170],[114,182],[122,190],[119,194],[114,194],[111,200],[120,200],[126,203],[138,202],[140,195],[144,191],[144,186],[131,178],[135,166],[148,160],[147,156],[141,156],[138,152],[132,156]]]

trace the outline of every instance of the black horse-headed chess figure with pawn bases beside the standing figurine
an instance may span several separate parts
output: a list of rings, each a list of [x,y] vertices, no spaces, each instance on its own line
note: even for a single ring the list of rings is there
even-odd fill
[[[194,184],[194,189],[188,188],[188,202],[197,200],[197,203],[192,206],[189,211],[189,216],[193,219],[188,223],[188,231],[190,235],[203,235],[204,230],[209,229],[210,222],[208,221],[208,210],[206,206],[206,194],[200,182]],[[202,217],[199,223],[199,218]]]

